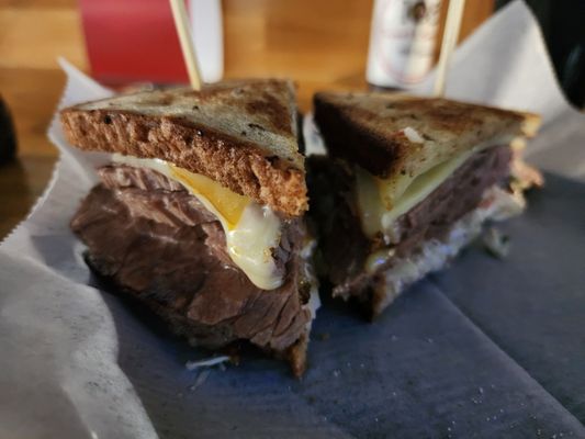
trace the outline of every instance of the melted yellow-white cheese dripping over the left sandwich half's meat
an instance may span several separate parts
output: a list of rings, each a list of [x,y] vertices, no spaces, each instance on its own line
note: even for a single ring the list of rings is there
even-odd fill
[[[154,169],[182,184],[217,217],[225,232],[227,252],[248,279],[262,290],[282,285],[272,256],[272,248],[280,243],[281,221],[270,207],[165,160],[114,155],[114,161]]]

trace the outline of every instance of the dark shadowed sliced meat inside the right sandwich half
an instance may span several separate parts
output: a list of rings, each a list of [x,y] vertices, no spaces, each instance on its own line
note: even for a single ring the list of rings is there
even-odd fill
[[[405,257],[432,238],[442,238],[450,226],[474,210],[483,192],[509,175],[511,150],[496,146],[474,154],[429,196],[398,222],[398,239],[391,245],[396,256]],[[368,238],[357,212],[351,167],[341,160],[310,157],[311,216],[318,230],[320,257],[334,284],[334,294],[351,294],[368,301],[376,273],[364,269],[365,259],[386,247],[382,236]],[[378,272],[392,264],[392,259]]]

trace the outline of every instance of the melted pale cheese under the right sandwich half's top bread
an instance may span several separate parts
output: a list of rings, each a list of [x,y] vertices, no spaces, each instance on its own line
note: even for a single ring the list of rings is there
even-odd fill
[[[473,154],[496,145],[506,145],[511,137],[477,144],[470,150],[445,160],[418,176],[380,179],[356,167],[357,203],[363,232],[373,236],[382,232],[387,244],[397,239],[396,219],[425,200]]]

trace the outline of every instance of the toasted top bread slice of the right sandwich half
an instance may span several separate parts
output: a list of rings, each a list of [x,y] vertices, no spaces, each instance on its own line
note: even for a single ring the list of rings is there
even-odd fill
[[[315,122],[333,156],[380,178],[415,177],[477,144],[533,136],[537,114],[402,93],[318,92]]]

